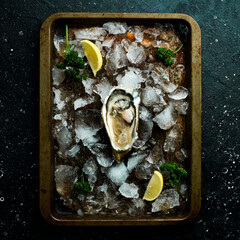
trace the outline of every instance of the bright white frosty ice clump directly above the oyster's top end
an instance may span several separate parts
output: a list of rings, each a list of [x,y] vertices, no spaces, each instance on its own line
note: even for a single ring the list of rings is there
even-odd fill
[[[142,77],[141,71],[138,68],[129,67],[124,71],[124,76],[121,74],[117,76],[118,85],[127,85],[133,89],[141,87],[141,83],[145,81]]]

